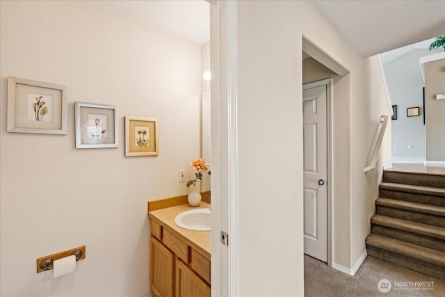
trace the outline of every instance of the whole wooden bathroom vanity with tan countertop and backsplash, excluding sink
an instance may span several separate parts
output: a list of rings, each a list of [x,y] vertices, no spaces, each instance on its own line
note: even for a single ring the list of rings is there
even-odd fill
[[[176,225],[175,217],[210,204],[190,207],[181,204],[184,196],[179,198],[148,202],[150,287],[159,297],[209,297],[211,232],[186,230]]]

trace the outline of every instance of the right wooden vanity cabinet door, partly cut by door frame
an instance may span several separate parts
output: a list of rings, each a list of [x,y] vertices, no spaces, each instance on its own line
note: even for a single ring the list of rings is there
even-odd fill
[[[176,297],[210,297],[210,287],[181,260],[176,259]]]

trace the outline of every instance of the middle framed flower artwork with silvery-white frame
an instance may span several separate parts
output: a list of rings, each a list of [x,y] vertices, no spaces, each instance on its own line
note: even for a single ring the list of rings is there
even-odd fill
[[[76,148],[118,147],[118,107],[74,102]]]

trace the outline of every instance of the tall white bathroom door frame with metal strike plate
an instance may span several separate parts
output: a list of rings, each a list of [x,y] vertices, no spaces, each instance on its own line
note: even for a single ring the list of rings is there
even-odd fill
[[[210,3],[211,296],[238,296],[237,3]],[[221,232],[229,236],[221,243]]]

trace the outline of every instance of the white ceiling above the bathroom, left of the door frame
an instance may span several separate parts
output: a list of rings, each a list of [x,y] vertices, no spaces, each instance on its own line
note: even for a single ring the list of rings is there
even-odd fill
[[[197,45],[210,40],[210,6],[204,0],[99,0],[159,31]]]

